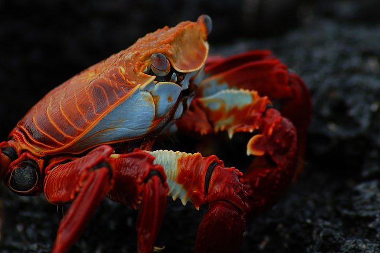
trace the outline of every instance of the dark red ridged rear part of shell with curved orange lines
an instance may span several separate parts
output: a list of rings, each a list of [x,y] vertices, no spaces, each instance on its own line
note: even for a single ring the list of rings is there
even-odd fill
[[[107,61],[47,94],[18,122],[16,138],[21,134],[26,143],[45,153],[75,142],[134,87],[117,68],[107,69]]]

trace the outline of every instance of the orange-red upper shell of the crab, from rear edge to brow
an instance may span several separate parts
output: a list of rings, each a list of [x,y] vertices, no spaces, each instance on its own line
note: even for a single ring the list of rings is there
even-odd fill
[[[145,73],[151,54],[163,53],[177,71],[191,72],[200,69],[206,61],[206,36],[203,23],[188,21],[145,35],[128,49],[91,66],[48,93],[17,123],[10,137],[16,140],[20,150],[29,150],[37,156],[81,153],[97,145],[130,140],[102,139],[96,144],[77,145],[102,118],[137,92],[139,85],[155,79]],[[147,103],[150,102],[154,103],[153,100]],[[162,118],[154,117],[147,133]]]

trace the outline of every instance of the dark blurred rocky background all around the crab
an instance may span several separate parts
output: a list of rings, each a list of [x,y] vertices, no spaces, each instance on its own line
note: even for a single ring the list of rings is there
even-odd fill
[[[0,0],[0,139],[70,76],[147,32],[206,13],[214,24],[211,53],[270,48],[313,97],[305,171],[248,225],[241,251],[379,252],[379,9],[375,0]],[[181,137],[173,142],[179,150],[193,147]],[[220,155],[239,167],[239,158]],[[43,197],[5,187],[1,195],[0,250],[49,251],[61,211]],[[169,201],[158,244],[192,252],[204,211]],[[105,200],[73,251],[133,252],[135,216]]]

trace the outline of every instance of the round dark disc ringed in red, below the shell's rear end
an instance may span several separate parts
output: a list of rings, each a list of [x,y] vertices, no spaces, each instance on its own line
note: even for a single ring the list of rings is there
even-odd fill
[[[24,161],[13,169],[9,181],[10,187],[16,192],[28,192],[38,181],[37,168],[32,162]]]

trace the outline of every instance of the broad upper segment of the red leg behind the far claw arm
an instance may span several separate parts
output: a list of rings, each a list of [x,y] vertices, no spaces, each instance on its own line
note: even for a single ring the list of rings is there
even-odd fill
[[[205,67],[206,78],[198,88],[199,97],[226,89],[255,90],[271,99],[292,99],[287,66],[268,50],[250,51],[213,61]]]

